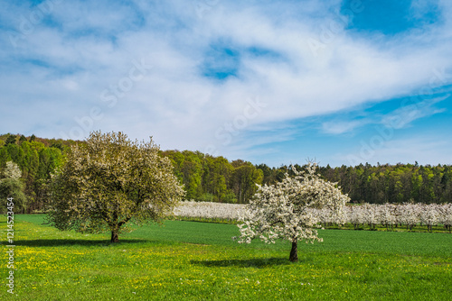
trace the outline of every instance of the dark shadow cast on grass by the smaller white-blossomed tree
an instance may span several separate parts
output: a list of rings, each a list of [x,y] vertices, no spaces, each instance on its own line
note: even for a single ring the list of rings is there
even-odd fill
[[[282,266],[292,264],[285,258],[268,258],[254,260],[192,260],[192,264],[204,267],[240,267],[240,268],[267,268],[269,266]]]

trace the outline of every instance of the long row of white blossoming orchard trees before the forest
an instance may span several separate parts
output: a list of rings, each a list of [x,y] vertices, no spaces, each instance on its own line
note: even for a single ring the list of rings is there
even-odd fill
[[[174,215],[197,219],[238,220],[245,205],[221,204],[211,202],[183,202],[174,208]],[[406,227],[412,230],[416,225],[427,225],[431,230],[435,225],[442,225],[452,231],[452,204],[364,204],[344,206],[342,214],[335,214],[329,208],[311,209],[318,223],[328,225],[353,224],[355,229],[364,225],[375,229],[381,225],[393,229]]]

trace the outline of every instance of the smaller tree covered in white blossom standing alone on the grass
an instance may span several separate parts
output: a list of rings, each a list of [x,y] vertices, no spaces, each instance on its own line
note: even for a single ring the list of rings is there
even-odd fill
[[[306,172],[292,167],[295,177],[286,174],[274,186],[259,186],[248,208],[240,216],[239,242],[250,243],[259,238],[274,243],[278,238],[292,242],[289,260],[298,260],[297,242],[322,242],[314,227],[318,220],[312,209],[328,207],[341,214],[346,202],[335,183],[325,181],[315,173],[316,164],[309,163]]]

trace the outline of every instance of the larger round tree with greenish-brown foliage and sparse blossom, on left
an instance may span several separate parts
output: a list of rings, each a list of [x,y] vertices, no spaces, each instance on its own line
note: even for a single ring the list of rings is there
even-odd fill
[[[183,195],[171,162],[148,142],[121,132],[92,132],[72,147],[51,182],[49,222],[60,230],[111,232],[111,241],[129,221],[160,222]]]

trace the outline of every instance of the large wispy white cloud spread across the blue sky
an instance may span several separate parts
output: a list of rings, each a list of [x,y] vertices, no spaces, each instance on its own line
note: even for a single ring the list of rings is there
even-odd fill
[[[249,121],[244,132],[407,95],[428,85],[436,68],[452,69],[448,21],[420,33],[367,36],[347,32],[344,23],[337,23],[334,11],[340,3],[206,2],[202,14],[194,3],[181,1],[132,6],[61,3],[52,12],[58,26],[39,23],[18,48],[10,45],[0,50],[0,58],[9,68],[0,74],[2,102],[16,104],[14,110],[24,112],[27,120],[17,123],[13,117],[5,117],[0,125],[58,137],[80,127],[75,118],[89,117],[90,110],[99,106],[103,117],[93,120],[83,131],[85,135],[91,129],[119,129],[137,138],[154,135],[164,148],[202,150],[218,143],[215,132],[243,114],[253,97],[268,107]],[[448,2],[441,5],[447,9],[445,14],[450,14]],[[10,5],[8,9],[11,14],[26,15],[24,7]],[[339,26],[334,27],[333,39],[325,42],[325,28],[331,29],[334,20]],[[322,42],[316,56],[309,47],[310,39]],[[250,47],[270,50],[278,59],[242,54],[238,78],[205,78],[203,56],[219,41],[239,51]],[[132,60],[142,58],[153,68],[109,108],[101,93],[118,86],[133,68]],[[50,66],[26,65],[27,59]],[[30,103],[33,112],[28,111]],[[48,107],[52,114],[46,114]],[[413,118],[421,114],[427,113]],[[360,125],[353,121],[335,127],[325,123],[324,130],[342,133]],[[41,132],[35,132],[38,128]],[[245,152],[278,140],[280,137],[268,135],[224,151]]]

